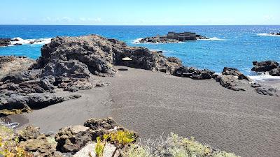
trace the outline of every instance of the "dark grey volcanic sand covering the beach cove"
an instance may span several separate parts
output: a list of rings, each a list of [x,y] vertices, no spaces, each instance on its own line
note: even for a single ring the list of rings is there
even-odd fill
[[[108,87],[78,91],[82,98],[22,117],[43,132],[55,132],[109,116],[139,132],[142,140],[173,132],[239,156],[279,156],[280,97],[134,68],[118,74],[97,78],[110,82]]]

